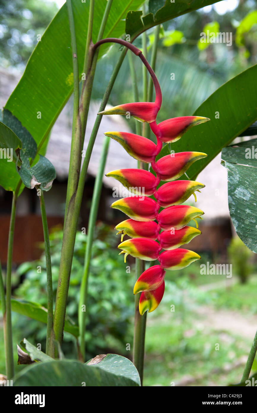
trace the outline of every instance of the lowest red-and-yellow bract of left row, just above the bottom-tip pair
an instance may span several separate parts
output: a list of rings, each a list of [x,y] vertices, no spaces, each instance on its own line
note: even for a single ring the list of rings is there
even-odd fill
[[[148,238],[132,238],[121,242],[121,244],[118,245],[118,248],[122,249],[120,254],[125,254],[124,262],[126,262],[128,254],[145,261],[156,260],[162,249],[158,242],[149,240]]]

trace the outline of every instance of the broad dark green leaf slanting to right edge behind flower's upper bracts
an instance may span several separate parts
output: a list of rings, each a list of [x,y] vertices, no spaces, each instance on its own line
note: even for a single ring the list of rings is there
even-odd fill
[[[194,115],[208,117],[210,121],[194,126],[172,145],[175,152],[199,151],[208,154],[189,168],[189,179],[195,179],[223,147],[257,120],[256,78],[257,65],[254,65],[224,83],[194,112]],[[165,145],[158,158],[169,153],[169,147]]]

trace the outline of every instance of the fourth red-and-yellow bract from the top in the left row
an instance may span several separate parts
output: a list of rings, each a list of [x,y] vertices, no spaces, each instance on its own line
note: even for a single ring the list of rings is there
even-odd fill
[[[159,205],[151,198],[135,196],[118,199],[111,204],[111,208],[119,209],[136,221],[154,221]]]

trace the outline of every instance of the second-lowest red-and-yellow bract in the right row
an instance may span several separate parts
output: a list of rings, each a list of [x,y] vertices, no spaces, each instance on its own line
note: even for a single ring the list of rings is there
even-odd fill
[[[158,241],[163,249],[171,250],[188,244],[201,231],[194,227],[183,227],[180,230],[163,231],[158,235]]]

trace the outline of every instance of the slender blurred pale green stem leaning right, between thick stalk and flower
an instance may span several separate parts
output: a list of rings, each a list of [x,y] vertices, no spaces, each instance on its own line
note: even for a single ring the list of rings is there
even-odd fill
[[[97,220],[97,212],[101,197],[102,180],[104,175],[104,168],[106,164],[106,158],[108,154],[110,138],[106,136],[104,144],[102,147],[101,158],[99,162],[99,167],[97,171],[96,180],[94,183],[94,192],[92,197],[92,204],[90,208],[90,215],[88,221],[87,230],[87,246],[85,251],[85,262],[83,269],[83,276],[80,286],[80,300],[79,300],[79,311],[78,311],[78,325],[80,331],[80,354],[85,360],[85,320],[86,320],[86,305],[87,305],[87,286],[88,286],[88,275],[90,269],[90,260],[92,255],[93,238],[94,238],[94,228]]]

